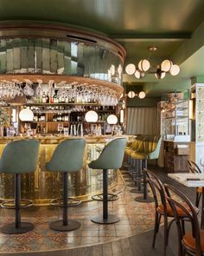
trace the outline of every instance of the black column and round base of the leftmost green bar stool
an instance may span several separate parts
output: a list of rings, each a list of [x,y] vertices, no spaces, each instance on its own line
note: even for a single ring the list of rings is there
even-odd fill
[[[21,222],[21,174],[15,174],[15,223],[2,227],[1,231],[8,234],[27,233],[34,229],[29,222]]]

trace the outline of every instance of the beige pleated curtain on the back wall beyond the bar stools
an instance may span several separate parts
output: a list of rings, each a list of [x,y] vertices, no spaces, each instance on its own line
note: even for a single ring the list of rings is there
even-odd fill
[[[127,108],[128,135],[158,135],[157,108]]]

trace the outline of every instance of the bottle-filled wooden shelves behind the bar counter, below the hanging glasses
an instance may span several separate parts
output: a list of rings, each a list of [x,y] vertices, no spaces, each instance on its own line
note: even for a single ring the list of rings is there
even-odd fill
[[[43,92],[41,102],[47,102],[48,104],[27,105],[34,113],[33,122],[36,125],[37,134],[88,135],[91,132],[91,125],[86,122],[85,115],[87,111],[94,110],[99,115],[96,122],[97,135],[101,135],[105,132],[107,116],[116,112],[115,107],[112,106],[66,105],[66,101],[67,98],[58,98],[56,93],[53,97],[49,97],[48,93]],[[52,105],[52,102],[54,102],[54,105]],[[61,123],[61,126],[59,126],[59,123]]]

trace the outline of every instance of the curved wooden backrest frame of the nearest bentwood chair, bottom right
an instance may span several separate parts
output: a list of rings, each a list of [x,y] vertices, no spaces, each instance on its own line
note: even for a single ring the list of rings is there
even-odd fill
[[[195,212],[194,205],[188,199],[185,194],[182,194],[177,188],[164,184],[165,191],[167,194],[167,200],[169,202],[170,207],[173,210],[175,215],[179,240],[182,241],[182,226],[181,221],[178,215],[178,209],[180,208],[185,214],[185,220],[189,220],[191,223],[191,233],[195,239],[195,252],[196,256],[201,256],[201,235],[200,235],[200,227],[197,218],[197,213]],[[175,199],[176,198],[176,199]]]

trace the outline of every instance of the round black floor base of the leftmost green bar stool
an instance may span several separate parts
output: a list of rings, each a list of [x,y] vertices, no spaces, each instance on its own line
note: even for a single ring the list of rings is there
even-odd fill
[[[2,233],[19,234],[32,231],[35,226],[29,222],[21,222],[21,227],[16,228],[16,223],[10,223],[1,228]]]

